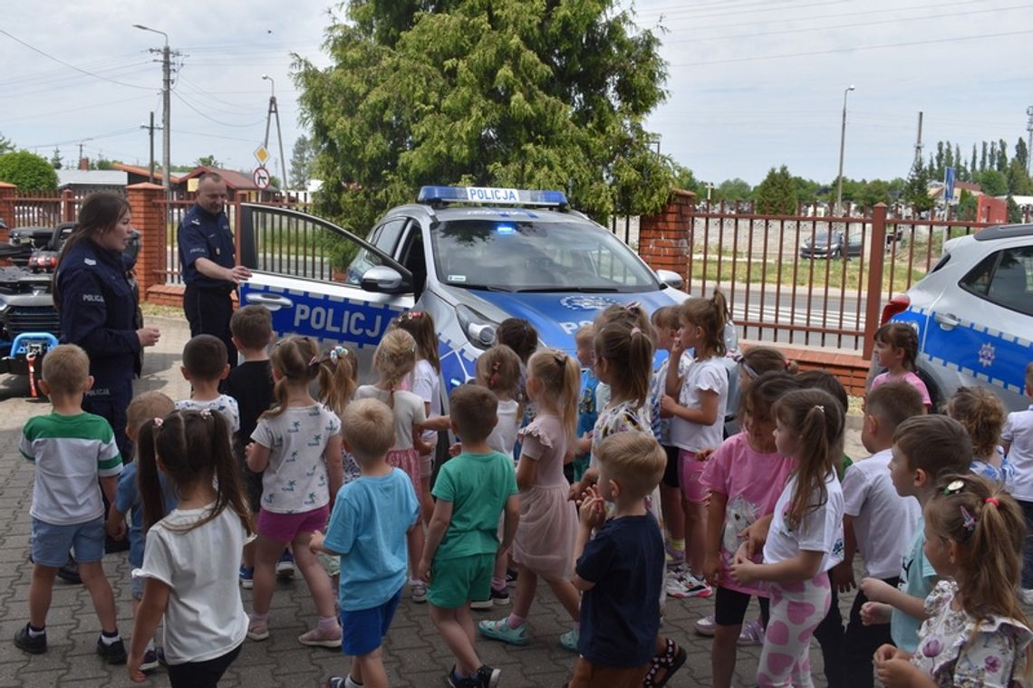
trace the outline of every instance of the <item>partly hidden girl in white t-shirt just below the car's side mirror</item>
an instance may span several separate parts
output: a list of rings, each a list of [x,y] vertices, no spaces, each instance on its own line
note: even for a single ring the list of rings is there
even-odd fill
[[[410,310],[398,317],[395,326],[412,335],[416,341],[416,366],[412,370],[412,393],[424,400],[427,418],[441,415],[441,363],[438,360],[438,334],[431,315],[424,310]],[[424,430],[422,441],[429,451],[419,455],[419,502],[424,519],[430,520],[434,511],[431,499],[431,474],[434,472],[434,452],[438,447],[438,433]]]

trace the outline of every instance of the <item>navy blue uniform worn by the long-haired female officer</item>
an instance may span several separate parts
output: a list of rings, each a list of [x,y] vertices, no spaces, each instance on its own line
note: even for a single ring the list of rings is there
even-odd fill
[[[126,408],[132,380],[140,370],[136,297],[122,254],[91,239],[73,244],[57,274],[61,341],[82,347],[90,357],[93,388],[83,408],[107,419],[124,460],[132,456],[126,437]]]

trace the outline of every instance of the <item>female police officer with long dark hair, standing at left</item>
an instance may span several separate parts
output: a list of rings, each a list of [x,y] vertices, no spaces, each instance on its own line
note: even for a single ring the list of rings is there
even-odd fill
[[[79,345],[90,357],[93,387],[83,399],[83,409],[112,424],[123,461],[132,459],[125,434],[132,380],[139,374],[143,348],[157,343],[160,335],[156,327],[136,328],[136,295],[122,257],[131,231],[124,198],[90,194],[61,249],[54,275],[61,341]]]

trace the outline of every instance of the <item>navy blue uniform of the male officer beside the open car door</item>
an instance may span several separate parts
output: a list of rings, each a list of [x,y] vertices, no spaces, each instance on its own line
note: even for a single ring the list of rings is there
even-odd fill
[[[229,318],[233,315],[230,295],[237,285],[226,280],[213,280],[197,270],[198,258],[231,268],[237,262],[233,233],[225,212],[212,215],[194,204],[180,223],[180,264],[183,266],[183,310],[190,323],[190,336],[212,334],[226,345],[229,365],[237,363],[236,349],[229,333]]]

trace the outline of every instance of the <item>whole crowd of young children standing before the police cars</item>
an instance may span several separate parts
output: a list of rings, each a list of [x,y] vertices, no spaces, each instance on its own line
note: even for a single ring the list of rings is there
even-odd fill
[[[714,637],[716,686],[731,685],[744,643],[763,644],[759,685],[812,685],[812,636],[829,685],[1024,680],[1033,406],[1005,416],[964,388],[946,416],[927,415],[913,331],[889,324],[875,347],[886,372],[866,399],[871,457],[844,455],[842,385],[764,347],[738,360],[741,430],[725,438],[726,310],[720,292],[652,317],[613,305],[576,333],[576,358],[510,319],[443,415],[428,314],[393,323],[376,382],[358,386],[352,352],[274,343],[269,313],[245,306],[230,323],[244,361],[232,372],[225,346],[199,335],[183,354],[190,399],[133,399],[134,462],[82,412],[86,354],[55,348],[41,382],[53,413],[21,443],[36,464],[35,565],[15,645],[45,652],[54,576],[72,549],[98,653],[134,680],[163,661],[174,686],[217,685],[246,637],[270,637],[277,571],[295,565],[318,616],[299,642],[352,658],[332,688],[387,685],[382,640],[406,588],[456,658],[447,685],[496,686],[475,638],[529,644],[539,579],[570,617],[559,643],[578,655],[572,687],[667,684],[686,652],[661,633],[664,597],[711,595],[696,630]],[[668,356],[654,369],[657,350]],[[443,430],[459,445],[432,486]],[[131,544],[128,653],[100,565],[105,530]],[[511,613],[474,624],[471,609],[510,603],[513,579]],[[238,584],[253,587],[250,613]],[[837,595],[853,587],[844,627]],[[747,622],[751,597],[760,618]]]

